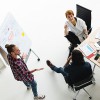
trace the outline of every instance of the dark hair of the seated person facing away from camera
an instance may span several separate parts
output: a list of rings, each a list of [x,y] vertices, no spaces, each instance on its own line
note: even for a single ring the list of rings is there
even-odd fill
[[[80,52],[79,50],[73,50],[72,51],[72,62],[77,65],[83,64],[85,61],[84,61],[82,52]]]

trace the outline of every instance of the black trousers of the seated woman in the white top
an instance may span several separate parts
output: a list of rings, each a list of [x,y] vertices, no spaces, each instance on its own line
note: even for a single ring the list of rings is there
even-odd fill
[[[75,47],[77,47],[77,44],[80,44],[79,38],[71,31],[69,31],[68,35],[65,36],[68,41],[71,43],[71,46],[69,48],[69,56],[71,55],[72,51],[74,50]],[[68,56],[68,57],[69,57]]]

